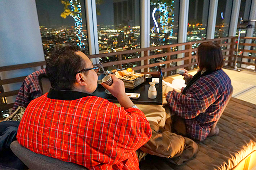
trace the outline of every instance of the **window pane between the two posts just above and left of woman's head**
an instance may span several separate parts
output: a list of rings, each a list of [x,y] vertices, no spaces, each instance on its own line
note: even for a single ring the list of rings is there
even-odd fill
[[[206,39],[209,1],[210,0],[190,0],[187,41]]]

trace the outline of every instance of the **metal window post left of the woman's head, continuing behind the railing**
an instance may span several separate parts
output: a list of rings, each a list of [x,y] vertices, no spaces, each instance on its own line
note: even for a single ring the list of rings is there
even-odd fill
[[[179,17],[179,26],[178,26],[178,43],[187,41],[187,24],[188,24],[188,7],[189,0],[180,0],[180,17]],[[185,50],[185,46],[178,46],[178,50]],[[177,58],[183,58],[184,53],[178,54]],[[178,61],[177,66],[184,64],[184,61]],[[176,70],[178,73],[178,70]]]

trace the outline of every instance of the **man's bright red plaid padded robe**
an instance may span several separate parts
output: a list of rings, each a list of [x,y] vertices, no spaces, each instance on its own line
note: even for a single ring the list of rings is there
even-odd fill
[[[22,146],[88,169],[139,169],[135,151],[152,135],[142,111],[96,96],[56,100],[47,95],[26,108],[17,132]]]

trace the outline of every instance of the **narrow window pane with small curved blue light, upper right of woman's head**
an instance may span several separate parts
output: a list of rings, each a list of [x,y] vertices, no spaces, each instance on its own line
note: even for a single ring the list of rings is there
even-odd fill
[[[227,37],[231,19],[233,0],[218,1],[218,11],[214,38]]]

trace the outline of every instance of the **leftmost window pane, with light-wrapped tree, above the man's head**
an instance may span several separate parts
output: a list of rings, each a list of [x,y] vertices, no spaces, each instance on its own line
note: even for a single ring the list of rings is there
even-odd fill
[[[57,45],[72,44],[89,55],[83,0],[36,0],[44,56]],[[73,5],[73,6],[72,6]]]

